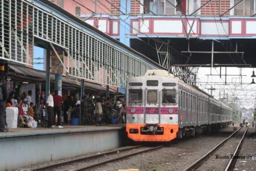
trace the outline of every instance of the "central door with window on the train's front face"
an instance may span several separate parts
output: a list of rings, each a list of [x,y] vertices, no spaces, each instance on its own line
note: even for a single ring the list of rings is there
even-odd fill
[[[159,91],[156,89],[145,90],[145,124],[160,123],[159,117]]]

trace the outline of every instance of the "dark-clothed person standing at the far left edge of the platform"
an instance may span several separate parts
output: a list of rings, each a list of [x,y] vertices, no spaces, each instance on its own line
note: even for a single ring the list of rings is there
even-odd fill
[[[5,101],[7,99],[7,88],[6,85],[0,84],[0,132],[8,132],[5,129],[6,115],[5,115]]]

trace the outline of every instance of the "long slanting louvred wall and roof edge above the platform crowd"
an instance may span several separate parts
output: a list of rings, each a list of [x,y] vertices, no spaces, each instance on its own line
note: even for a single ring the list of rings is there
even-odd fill
[[[9,63],[33,67],[33,47],[40,46],[47,49],[47,71],[54,53],[67,76],[116,87],[165,69],[47,0],[1,0],[0,18],[0,58]]]

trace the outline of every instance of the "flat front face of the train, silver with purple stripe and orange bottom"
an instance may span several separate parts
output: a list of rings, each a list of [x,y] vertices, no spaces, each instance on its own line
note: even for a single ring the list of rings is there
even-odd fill
[[[179,130],[176,84],[150,77],[138,81],[142,79],[131,80],[127,86],[128,137],[136,142],[175,139]]]

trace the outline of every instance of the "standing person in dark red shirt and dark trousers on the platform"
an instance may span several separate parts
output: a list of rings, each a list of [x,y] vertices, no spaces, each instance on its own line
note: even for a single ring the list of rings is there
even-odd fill
[[[62,96],[58,95],[58,91],[55,90],[54,96],[53,96],[53,101],[54,101],[54,118],[55,115],[58,117],[58,128],[63,128],[61,126],[61,104],[63,102]]]

